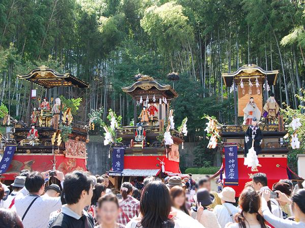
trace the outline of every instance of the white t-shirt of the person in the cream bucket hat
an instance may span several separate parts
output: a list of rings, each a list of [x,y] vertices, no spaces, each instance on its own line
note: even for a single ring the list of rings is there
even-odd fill
[[[232,216],[230,216],[230,213],[226,207],[230,210]],[[228,222],[233,222],[232,217],[238,213],[238,209],[233,204],[224,203],[223,205],[216,205],[213,213],[216,215],[220,226],[224,228]]]

